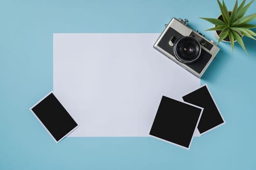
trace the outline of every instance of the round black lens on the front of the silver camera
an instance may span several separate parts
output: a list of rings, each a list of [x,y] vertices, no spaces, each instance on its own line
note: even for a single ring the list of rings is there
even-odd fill
[[[175,43],[174,54],[180,62],[192,63],[199,58],[200,53],[200,43],[192,36],[183,36]]]

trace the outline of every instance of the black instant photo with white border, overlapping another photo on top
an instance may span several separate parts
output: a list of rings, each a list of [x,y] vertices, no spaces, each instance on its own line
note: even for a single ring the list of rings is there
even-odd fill
[[[190,149],[203,108],[163,96],[149,135]]]

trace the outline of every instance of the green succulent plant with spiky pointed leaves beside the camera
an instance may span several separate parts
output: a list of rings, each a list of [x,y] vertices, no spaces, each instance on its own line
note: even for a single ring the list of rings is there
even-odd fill
[[[252,28],[256,28],[256,25],[248,24],[250,21],[256,19],[256,13],[249,16],[244,16],[254,0],[250,1],[246,5],[245,1],[246,0],[243,0],[238,6],[236,0],[233,11],[229,12],[224,0],[222,0],[222,4],[219,0],[217,0],[223,19],[221,20],[219,18],[200,17],[215,25],[215,27],[210,28],[206,31],[221,31],[217,44],[226,37],[229,38],[232,52],[234,51],[234,43],[235,41],[237,41],[239,45],[244,49],[244,51],[248,53],[241,38],[242,35],[248,36],[256,40],[256,38],[254,37],[256,36],[256,33],[250,30]]]

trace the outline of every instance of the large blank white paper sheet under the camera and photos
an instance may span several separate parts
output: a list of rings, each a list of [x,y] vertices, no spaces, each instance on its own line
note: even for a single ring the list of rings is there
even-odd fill
[[[69,136],[149,136],[163,95],[200,79],[153,49],[160,34],[54,34],[53,91],[80,125]]]

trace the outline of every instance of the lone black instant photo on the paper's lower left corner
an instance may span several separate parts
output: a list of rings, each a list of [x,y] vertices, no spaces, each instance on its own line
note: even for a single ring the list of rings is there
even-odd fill
[[[78,127],[78,124],[54,96],[52,91],[33,105],[30,110],[56,143],[60,142]]]

